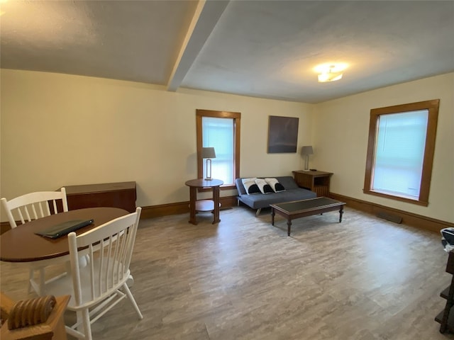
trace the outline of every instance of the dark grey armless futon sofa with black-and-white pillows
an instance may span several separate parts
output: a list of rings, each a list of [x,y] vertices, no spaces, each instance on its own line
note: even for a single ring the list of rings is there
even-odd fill
[[[285,191],[278,193],[255,193],[253,195],[248,195],[243,186],[243,182],[241,181],[243,178],[236,179],[235,184],[238,190],[238,205],[240,205],[240,202],[242,202],[245,205],[248,205],[250,208],[257,209],[255,215],[258,216],[260,214],[260,210],[262,210],[262,208],[268,208],[270,204],[290,202],[292,200],[306,200],[308,198],[316,198],[317,196],[314,191],[299,188],[292,176],[280,176],[272,178],[277,179],[277,181],[279,181],[279,183],[284,186]]]

